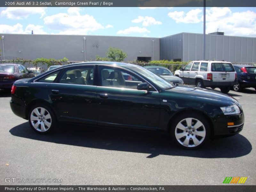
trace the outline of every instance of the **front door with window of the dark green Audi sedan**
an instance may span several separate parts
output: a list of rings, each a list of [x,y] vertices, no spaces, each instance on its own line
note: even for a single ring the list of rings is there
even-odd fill
[[[98,74],[99,125],[158,128],[160,98],[154,88],[148,92],[137,90],[137,85],[145,81],[126,69],[99,66]],[[127,75],[129,80],[124,78]]]

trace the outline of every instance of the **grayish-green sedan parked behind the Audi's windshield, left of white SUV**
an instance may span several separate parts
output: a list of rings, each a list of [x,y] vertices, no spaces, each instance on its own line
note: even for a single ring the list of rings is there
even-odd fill
[[[163,77],[175,86],[178,86],[179,84],[184,84],[183,80],[180,77],[174,76],[174,74],[168,68],[161,66],[145,66],[144,68],[155,73],[156,75]]]

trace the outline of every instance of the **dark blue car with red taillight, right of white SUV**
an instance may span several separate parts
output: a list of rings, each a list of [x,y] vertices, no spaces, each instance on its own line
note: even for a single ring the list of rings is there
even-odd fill
[[[234,65],[238,82],[232,86],[234,91],[242,91],[244,88],[253,87],[256,91],[256,67],[250,65]]]

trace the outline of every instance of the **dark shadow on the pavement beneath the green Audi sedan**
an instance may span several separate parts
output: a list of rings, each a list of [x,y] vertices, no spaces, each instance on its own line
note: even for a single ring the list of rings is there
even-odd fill
[[[147,158],[158,155],[235,158],[245,156],[252,150],[250,141],[240,134],[209,141],[197,150],[185,150],[172,144],[166,134],[154,132],[63,125],[50,134],[40,135],[30,128],[28,122],[13,127],[9,132],[17,137],[64,145],[145,153]]]

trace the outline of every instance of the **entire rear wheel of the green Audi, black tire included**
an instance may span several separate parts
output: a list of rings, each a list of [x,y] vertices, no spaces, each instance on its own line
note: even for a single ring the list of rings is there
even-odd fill
[[[36,109],[37,112],[35,112]],[[52,109],[43,103],[38,103],[29,110],[28,122],[30,127],[39,134],[47,134],[51,132],[57,124]]]

